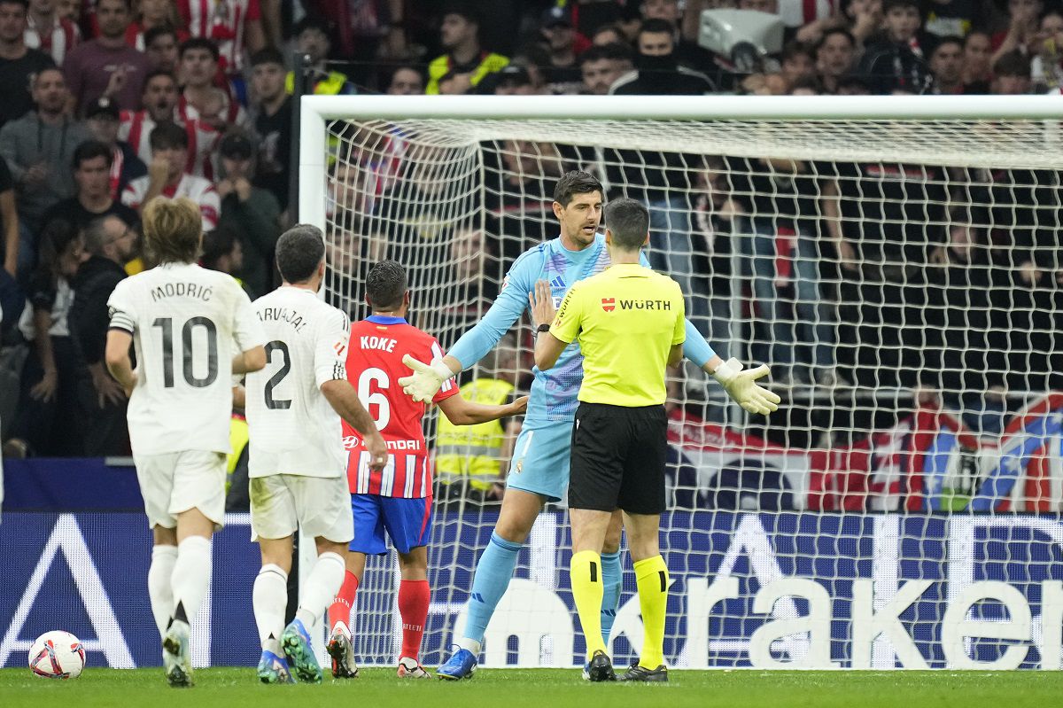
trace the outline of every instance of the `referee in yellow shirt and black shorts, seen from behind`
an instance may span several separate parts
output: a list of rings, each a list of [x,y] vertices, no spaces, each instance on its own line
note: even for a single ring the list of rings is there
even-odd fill
[[[585,674],[592,681],[617,678],[602,640],[601,553],[609,518],[619,508],[644,633],[639,662],[620,680],[667,681],[669,581],[658,544],[668,452],[664,368],[682,358],[684,299],[675,281],[639,265],[639,251],[649,241],[645,206],[632,199],[613,200],[605,207],[605,221],[612,265],[572,285],[550,332],[536,342],[535,361],[539,369],[550,369],[573,340],[584,355],[572,429],[569,517],[572,594],[587,638]]]

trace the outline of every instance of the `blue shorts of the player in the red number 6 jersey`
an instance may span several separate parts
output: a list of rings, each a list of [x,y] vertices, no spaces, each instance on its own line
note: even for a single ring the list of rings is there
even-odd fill
[[[391,545],[402,554],[427,545],[432,534],[432,498],[402,499],[379,494],[351,494],[354,511],[354,540],[350,549],[376,556],[388,552],[387,532]]]

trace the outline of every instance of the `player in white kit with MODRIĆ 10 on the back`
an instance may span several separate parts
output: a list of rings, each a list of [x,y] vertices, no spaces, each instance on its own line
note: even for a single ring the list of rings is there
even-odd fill
[[[210,585],[210,537],[225,511],[232,377],[266,366],[266,340],[239,284],[196,265],[203,221],[193,202],[155,198],[144,208],[144,235],[159,265],[111,294],[105,358],[130,395],[133,461],[155,538],[148,594],[166,677],[190,686],[188,625]]]

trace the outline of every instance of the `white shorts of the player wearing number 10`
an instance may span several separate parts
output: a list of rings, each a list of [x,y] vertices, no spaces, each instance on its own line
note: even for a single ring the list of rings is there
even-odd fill
[[[175,528],[178,515],[199,509],[220,529],[225,517],[225,453],[187,450],[134,455],[150,526]]]

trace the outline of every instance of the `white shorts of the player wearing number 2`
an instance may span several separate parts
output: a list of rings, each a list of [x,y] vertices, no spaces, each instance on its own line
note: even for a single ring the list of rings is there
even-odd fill
[[[347,476],[271,474],[250,482],[252,541],[287,538],[297,526],[307,536],[334,543],[354,538]]]

